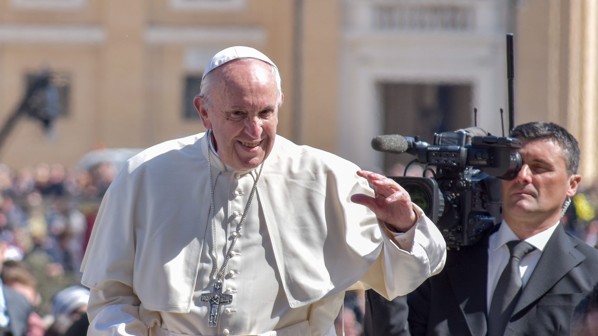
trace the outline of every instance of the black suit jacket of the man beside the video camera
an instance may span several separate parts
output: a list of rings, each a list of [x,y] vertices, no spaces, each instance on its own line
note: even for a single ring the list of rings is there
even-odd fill
[[[444,270],[408,295],[411,335],[486,335],[487,248],[486,237],[477,245],[449,251]],[[573,309],[597,282],[598,251],[559,224],[521,292],[505,335],[569,335]],[[386,307],[371,312],[379,309]],[[404,322],[388,321],[389,326],[395,323]],[[376,335],[392,335],[382,331],[383,326],[378,329]]]

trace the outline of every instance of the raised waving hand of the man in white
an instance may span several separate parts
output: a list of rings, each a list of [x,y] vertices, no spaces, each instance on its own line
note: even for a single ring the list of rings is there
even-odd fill
[[[411,204],[411,197],[398,183],[384,175],[359,170],[357,175],[366,178],[374,189],[374,196],[355,194],[353,203],[365,205],[376,213],[377,218],[385,221],[397,231],[409,230],[417,221]]]

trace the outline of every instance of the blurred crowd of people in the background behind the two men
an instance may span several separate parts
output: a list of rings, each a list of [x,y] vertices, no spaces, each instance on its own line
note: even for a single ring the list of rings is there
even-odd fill
[[[12,170],[0,164],[0,237],[7,243],[2,280],[35,307],[30,336],[87,328],[83,303],[89,291],[80,287],[79,268],[100,201],[117,170],[110,162],[77,170],[45,163]],[[597,210],[598,181],[582,183],[563,217],[568,231],[591,246],[598,243]],[[363,291],[347,292],[335,322],[338,334],[344,329],[347,336],[361,335],[363,318]]]

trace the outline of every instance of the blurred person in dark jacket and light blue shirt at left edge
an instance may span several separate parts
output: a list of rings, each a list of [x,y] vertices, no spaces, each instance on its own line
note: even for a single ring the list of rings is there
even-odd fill
[[[7,242],[0,242],[0,272]],[[0,335],[24,336],[33,307],[19,292],[5,283],[0,286]]]

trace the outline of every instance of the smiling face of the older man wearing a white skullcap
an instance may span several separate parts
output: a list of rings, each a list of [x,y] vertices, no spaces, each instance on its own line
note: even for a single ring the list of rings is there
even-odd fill
[[[197,97],[203,126],[216,152],[237,170],[259,166],[270,154],[278,124],[278,88],[268,63],[233,60],[214,69],[209,103]]]

